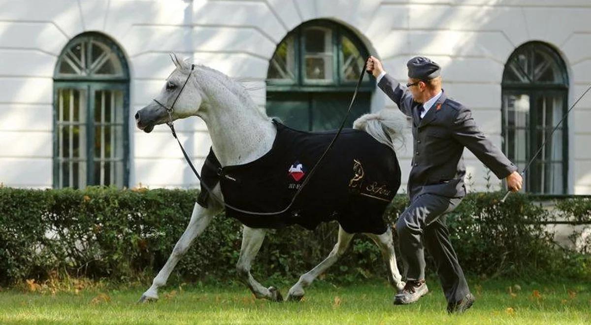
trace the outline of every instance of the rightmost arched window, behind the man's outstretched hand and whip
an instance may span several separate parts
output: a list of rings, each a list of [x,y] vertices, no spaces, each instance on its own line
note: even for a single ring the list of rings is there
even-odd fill
[[[569,77],[558,53],[541,42],[518,47],[505,64],[502,82],[504,151],[519,170],[547,141],[525,173],[525,190],[539,194],[566,194]]]

